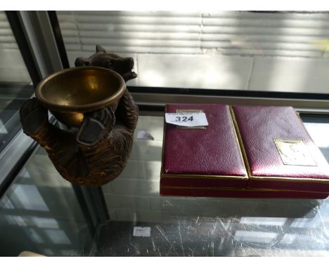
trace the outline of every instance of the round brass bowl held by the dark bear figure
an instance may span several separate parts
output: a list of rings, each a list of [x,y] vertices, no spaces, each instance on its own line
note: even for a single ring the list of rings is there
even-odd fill
[[[117,108],[126,83],[120,74],[102,67],[73,67],[47,76],[36,89],[36,98],[58,121],[79,127],[85,112]]]

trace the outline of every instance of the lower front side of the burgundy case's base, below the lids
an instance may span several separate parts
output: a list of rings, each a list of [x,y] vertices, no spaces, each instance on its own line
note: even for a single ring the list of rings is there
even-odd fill
[[[200,196],[200,197],[236,197],[252,199],[325,199],[328,194],[312,192],[288,192],[288,191],[250,191],[233,189],[202,189],[202,188],[169,188],[161,187],[162,196]]]

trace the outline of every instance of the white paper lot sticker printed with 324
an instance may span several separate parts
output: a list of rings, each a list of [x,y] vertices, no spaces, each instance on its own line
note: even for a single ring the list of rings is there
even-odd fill
[[[208,126],[204,112],[183,112],[164,114],[167,123],[177,126]]]

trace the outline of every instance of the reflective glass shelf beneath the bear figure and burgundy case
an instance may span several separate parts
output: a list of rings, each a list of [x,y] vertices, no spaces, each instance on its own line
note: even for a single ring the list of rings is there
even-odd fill
[[[328,118],[303,121],[329,160]],[[138,140],[138,130],[154,140]],[[329,199],[160,196],[162,132],[162,116],[139,117],[127,167],[102,187],[110,220],[95,236],[72,185],[38,147],[0,201],[0,255],[329,255]]]

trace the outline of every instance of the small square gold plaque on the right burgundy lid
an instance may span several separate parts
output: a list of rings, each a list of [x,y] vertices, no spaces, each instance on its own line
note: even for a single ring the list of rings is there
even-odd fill
[[[274,138],[274,142],[285,165],[317,166],[304,140]]]

